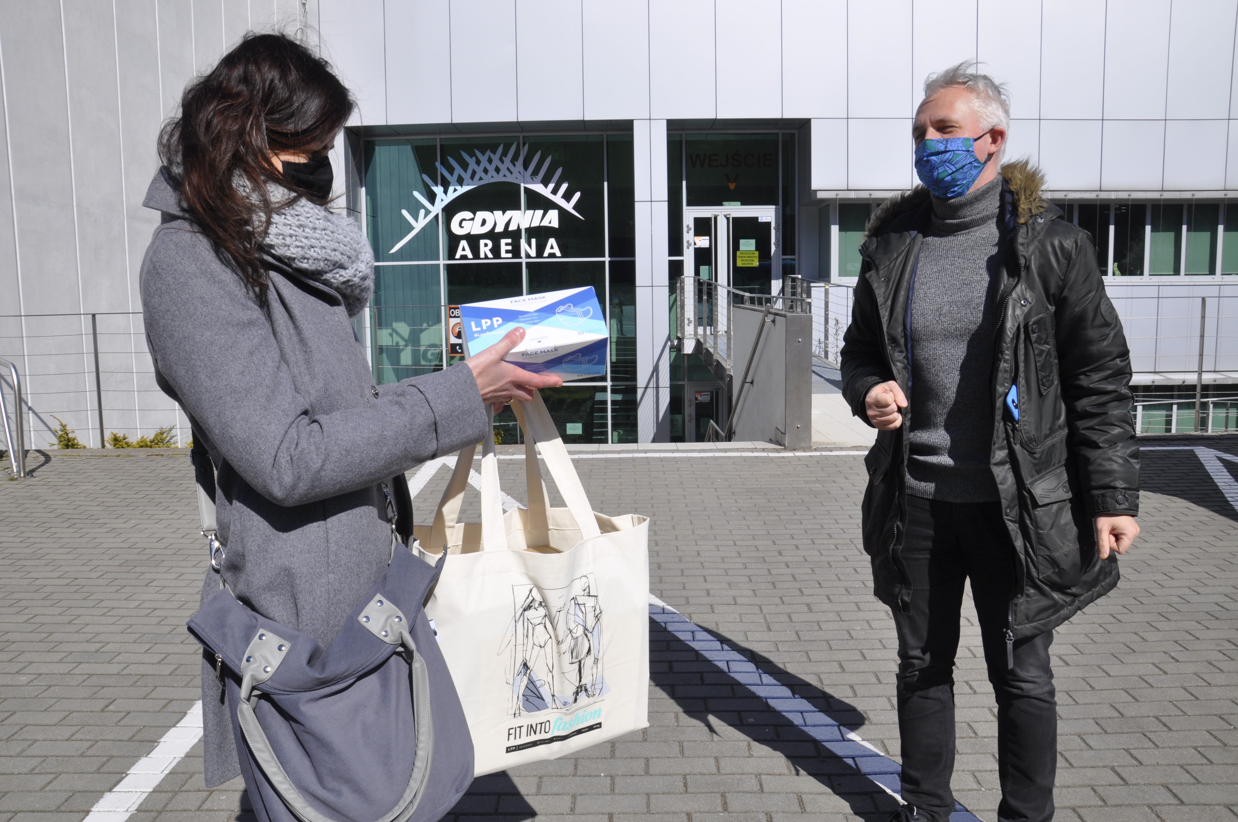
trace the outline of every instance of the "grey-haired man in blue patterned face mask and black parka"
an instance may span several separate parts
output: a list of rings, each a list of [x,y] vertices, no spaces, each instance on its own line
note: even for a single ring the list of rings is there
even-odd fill
[[[1118,582],[1139,534],[1130,357],[1091,238],[1000,165],[1004,89],[971,61],[931,76],[924,183],[860,246],[843,391],[878,428],[864,550],[899,635],[903,800],[954,810],[953,667],[964,582],[998,703],[1002,822],[1054,816],[1054,629]]]

